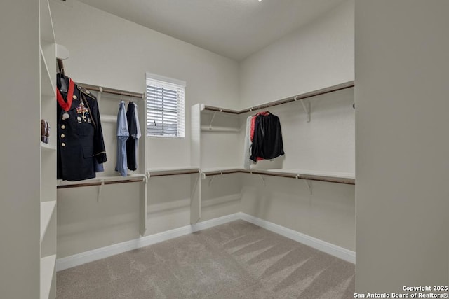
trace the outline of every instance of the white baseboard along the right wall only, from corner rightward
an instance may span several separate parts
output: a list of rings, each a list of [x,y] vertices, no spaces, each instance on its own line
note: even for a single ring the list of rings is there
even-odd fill
[[[296,242],[300,242],[307,246],[311,246],[314,249],[318,249],[319,251],[326,252],[331,256],[335,256],[337,258],[341,258],[342,260],[346,260],[349,263],[353,264],[356,263],[356,253],[354,251],[350,251],[343,247],[325,242],[321,239],[316,239],[314,237],[304,235],[301,232],[290,230],[290,228],[285,228],[281,225],[277,225],[245,213],[241,213],[241,219],[253,223],[257,226],[260,226],[261,228],[265,228],[267,230],[271,230],[272,232],[276,232],[276,234],[288,237],[288,239],[293,239]]]

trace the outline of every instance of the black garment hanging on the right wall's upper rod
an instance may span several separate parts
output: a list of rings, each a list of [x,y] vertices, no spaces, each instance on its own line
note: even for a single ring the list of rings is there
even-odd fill
[[[250,159],[257,162],[257,157],[274,159],[280,155],[284,155],[284,152],[279,117],[272,113],[267,116],[258,115],[255,119]]]

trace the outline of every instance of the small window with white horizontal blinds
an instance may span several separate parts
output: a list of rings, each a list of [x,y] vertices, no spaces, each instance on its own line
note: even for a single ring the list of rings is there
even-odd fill
[[[185,137],[185,82],[147,73],[147,136]]]

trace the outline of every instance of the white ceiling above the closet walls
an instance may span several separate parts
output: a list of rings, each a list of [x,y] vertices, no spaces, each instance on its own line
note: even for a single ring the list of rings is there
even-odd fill
[[[214,53],[243,60],[344,0],[80,0]]]

